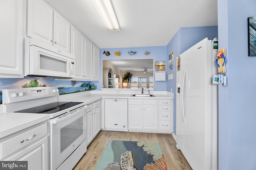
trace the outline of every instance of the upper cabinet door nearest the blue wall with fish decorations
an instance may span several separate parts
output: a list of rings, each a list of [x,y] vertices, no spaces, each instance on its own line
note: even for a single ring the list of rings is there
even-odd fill
[[[100,49],[93,45],[93,77],[92,80],[100,80]]]

